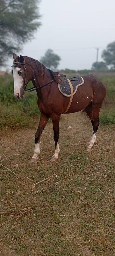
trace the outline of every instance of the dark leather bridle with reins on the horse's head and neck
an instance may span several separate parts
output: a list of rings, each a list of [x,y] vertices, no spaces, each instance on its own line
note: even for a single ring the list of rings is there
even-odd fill
[[[21,62],[16,62],[16,61],[14,61],[13,65],[11,66],[11,68],[15,68],[15,67],[16,67],[16,64],[24,65],[25,83],[24,83],[23,93],[24,93],[24,92],[27,92],[27,91],[28,91],[28,92],[33,92],[34,90],[40,89],[40,88],[42,88],[42,87],[44,87],[44,86],[46,86],[46,85],[48,85],[48,84],[50,84],[50,83],[52,83],[52,82],[55,81],[55,80],[51,80],[51,81],[48,82],[47,84],[43,84],[43,85],[41,85],[41,86],[39,86],[39,87],[36,87],[36,88],[35,88],[35,87],[32,87],[32,88],[26,90],[26,87],[27,87],[27,84],[28,84],[28,82],[27,82],[27,76],[26,76],[26,71],[28,71],[28,69],[27,69],[26,66],[25,66],[25,62],[21,63]],[[28,65],[30,65],[30,64],[28,64]],[[31,66],[31,65],[30,65],[30,66]],[[34,73],[34,70],[33,70],[33,73]]]

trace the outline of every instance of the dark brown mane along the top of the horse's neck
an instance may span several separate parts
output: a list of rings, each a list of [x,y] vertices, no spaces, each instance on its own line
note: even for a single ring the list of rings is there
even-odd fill
[[[58,76],[59,72],[53,72],[52,70],[46,68],[43,64],[41,64],[38,60],[32,59],[30,57],[24,56],[24,59],[25,63],[33,68],[35,76],[39,75],[41,79],[44,79],[45,76],[48,76],[50,73],[56,83],[60,82],[60,78]]]

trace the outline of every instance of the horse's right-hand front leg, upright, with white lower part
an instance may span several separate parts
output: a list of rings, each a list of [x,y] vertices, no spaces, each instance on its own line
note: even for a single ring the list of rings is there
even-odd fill
[[[60,116],[53,115],[52,122],[53,122],[53,130],[54,130],[55,153],[54,153],[54,156],[52,156],[51,158],[51,162],[56,162],[58,161],[58,154],[60,153],[60,148],[58,144]]]

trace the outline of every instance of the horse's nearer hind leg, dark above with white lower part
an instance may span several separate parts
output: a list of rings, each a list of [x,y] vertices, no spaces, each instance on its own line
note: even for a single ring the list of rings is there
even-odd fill
[[[88,148],[87,148],[88,152],[90,152],[92,150],[92,147],[93,147],[93,145],[95,143],[95,140],[96,140],[96,132],[97,132],[97,129],[98,129],[98,126],[99,126],[99,112],[100,112],[100,106],[98,104],[94,104],[92,102],[92,114],[91,114],[91,116],[89,116],[89,115],[88,116],[90,117],[91,124],[93,126],[93,134],[92,134],[90,142],[87,145],[88,146]]]

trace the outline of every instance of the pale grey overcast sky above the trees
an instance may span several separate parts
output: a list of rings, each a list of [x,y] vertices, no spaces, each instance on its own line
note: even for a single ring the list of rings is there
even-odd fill
[[[90,69],[115,41],[115,0],[41,0],[41,27],[18,55],[40,60],[48,48],[61,57],[58,68]],[[9,64],[12,61],[10,60]]]

